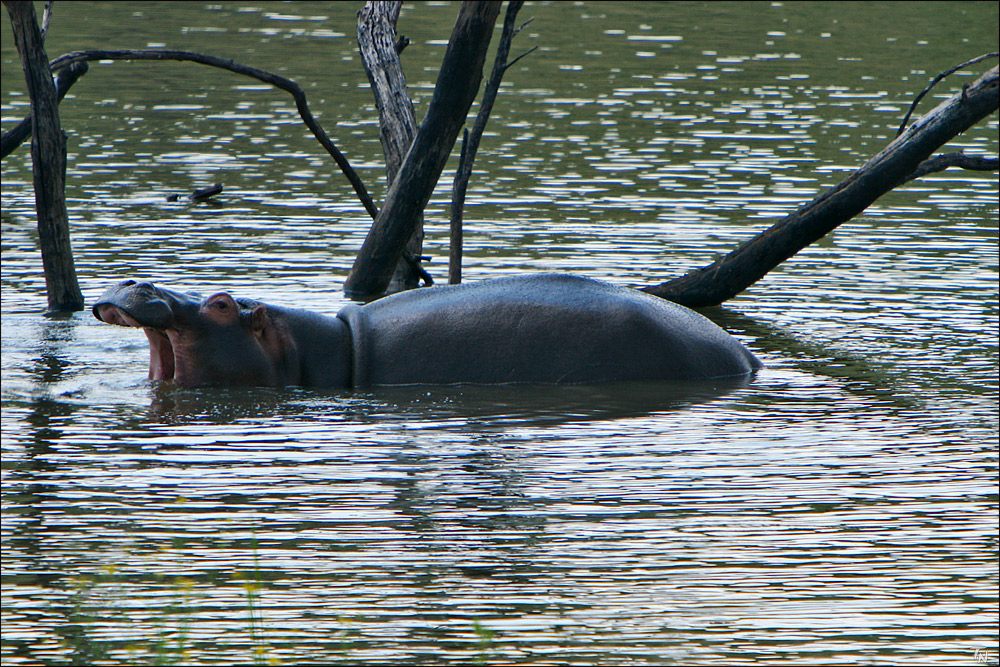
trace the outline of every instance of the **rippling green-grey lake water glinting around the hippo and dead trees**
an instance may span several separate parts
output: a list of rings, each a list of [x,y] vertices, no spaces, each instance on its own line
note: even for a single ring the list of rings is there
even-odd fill
[[[178,48],[297,80],[377,200],[360,3],[56,3],[50,57]],[[456,5],[406,5],[418,117]],[[649,284],[884,146],[996,3],[534,3],[466,276]],[[8,23],[3,127],[27,111]],[[921,111],[985,67],[949,79]],[[933,98],[933,99],[930,99]],[[88,303],[125,277],[333,313],[368,227],[283,93],[93,63],[61,106]],[[996,116],[947,150],[997,152]],[[449,165],[428,210],[444,280]],[[178,391],[46,317],[2,166],[4,665],[997,661],[997,178],[884,197],[707,311],[745,387]],[[164,196],[220,182],[216,205]]]

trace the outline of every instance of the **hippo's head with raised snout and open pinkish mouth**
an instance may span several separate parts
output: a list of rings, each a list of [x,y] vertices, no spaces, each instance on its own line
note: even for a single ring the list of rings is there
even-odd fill
[[[225,292],[201,299],[125,280],[93,312],[102,322],[145,331],[151,380],[181,387],[298,383],[295,345],[262,303]]]

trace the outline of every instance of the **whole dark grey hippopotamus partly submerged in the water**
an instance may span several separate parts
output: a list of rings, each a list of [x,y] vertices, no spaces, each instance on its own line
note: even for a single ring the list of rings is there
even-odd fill
[[[426,287],[335,316],[125,280],[93,313],[142,328],[149,378],[181,387],[712,380],[761,367],[692,310],[563,274]]]

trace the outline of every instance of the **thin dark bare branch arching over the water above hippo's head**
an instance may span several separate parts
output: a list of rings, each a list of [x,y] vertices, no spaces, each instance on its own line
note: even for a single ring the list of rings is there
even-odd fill
[[[242,65],[225,58],[218,58],[216,56],[210,56],[203,53],[194,53],[192,51],[174,51],[168,49],[134,51],[74,51],[72,53],[59,56],[49,63],[49,66],[50,69],[55,72],[73,63],[88,60],[180,60],[194,62],[200,65],[208,65],[209,67],[218,67],[219,69],[224,69],[233,72],[234,74],[248,76],[284,90],[285,92],[291,94],[292,98],[295,100],[295,106],[299,111],[299,116],[302,117],[302,121],[306,124],[306,127],[312,131],[313,136],[316,137],[323,148],[325,148],[333,157],[337,166],[340,167],[340,170],[344,172],[344,175],[354,187],[354,191],[357,193],[358,198],[364,205],[365,210],[368,211],[368,214],[371,215],[372,218],[378,215],[378,209],[375,208],[375,203],[368,194],[368,190],[365,188],[364,183],[361,182],[361,179],[354,171],[354,168],[351,167],[350,162],[348,162],[347,158],[344,157],[344,154],[341,153],[340,150],[333,144],[326,132],[323,131],[323,128],[320,127],[315,117],[313,117],[312,112],[309,110],[309,104],[306,101],[305,92],[303,92],[302,88],[299,87],[299,84],[295,83],[291,79],[286,79],[283,76],[279,76],[256,67]]]

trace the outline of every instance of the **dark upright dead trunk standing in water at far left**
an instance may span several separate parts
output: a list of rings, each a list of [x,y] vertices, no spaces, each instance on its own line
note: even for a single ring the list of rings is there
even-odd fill
[[[66,135],[59,124],[59,99],[49,72],[42,34],[30,0],[4,0],[31,98],[31,163],[38,211],[38,242],[49,310],[83,309],[76,280],[66,213]]]

